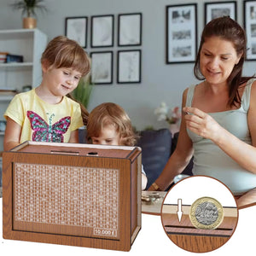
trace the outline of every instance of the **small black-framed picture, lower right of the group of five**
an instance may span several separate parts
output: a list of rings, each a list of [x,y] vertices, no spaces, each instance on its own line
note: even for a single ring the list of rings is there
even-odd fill
[[[141,55],[140,49],[118,51],[118,84],[141,83]]]

